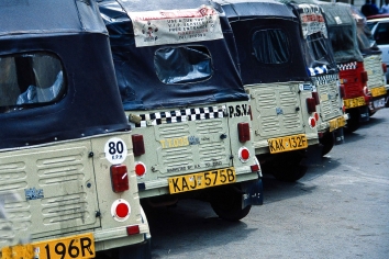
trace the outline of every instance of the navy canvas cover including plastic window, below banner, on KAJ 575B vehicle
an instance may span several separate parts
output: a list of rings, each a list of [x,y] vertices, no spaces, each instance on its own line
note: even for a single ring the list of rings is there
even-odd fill
[[[177,30],[192,30],[197,24],[191,22],[197,20],[186,23],[180,15],[192,13],[193,9],[200,7],[210,7],[208,1],[102,0],[98,1],[98,4],[110,34],[118,83],[125,110],[182,108],[247,100],[236,65],[233,34],[225,16],[220,16],[219,20],[222,38],[207,40],[212,37],[212,32],[207,31],[204,40],[191,41],[189,36],[185,36],[191,34],[182,34],[181,41],[171,40],[171,44],[158,43],[160,30],[164,30],[162,36],[168,36],[169,31],[159,27],[166,22],[160,19],[160,13],[177,14],[171,19],[176,24],[179,23]],[[143,33],[148,34],[148,37],[144,41],[154,41],[154,45],[136,43],[134,38],[131,16],[147,15],[151,18],[144,19],[147,20],[148,26],[144,27]],[[202,26],[203,24],[199,25],[200,29]],[[177,43],[174,44],[174,41]]]

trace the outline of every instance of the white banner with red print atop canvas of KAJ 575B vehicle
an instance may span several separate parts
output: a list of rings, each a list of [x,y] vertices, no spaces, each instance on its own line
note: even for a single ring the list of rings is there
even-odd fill
[[[223,38],[216,10],[198,9],[130,12],[136,47]]]

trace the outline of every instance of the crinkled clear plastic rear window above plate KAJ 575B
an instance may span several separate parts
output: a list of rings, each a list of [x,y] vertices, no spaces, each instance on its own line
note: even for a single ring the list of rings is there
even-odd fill
[[[198,82],[212,76],[211,55],[202,46],[160,48],[154,55],[154,66],[159,80],[167,85]]]

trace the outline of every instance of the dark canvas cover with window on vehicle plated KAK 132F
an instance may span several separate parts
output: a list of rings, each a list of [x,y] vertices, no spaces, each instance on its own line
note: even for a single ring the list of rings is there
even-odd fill
[[[277,1],[218,0],[235,33],[245,85],[309,80],[297,16]],[[287,38],[287,40],[286,40]]]

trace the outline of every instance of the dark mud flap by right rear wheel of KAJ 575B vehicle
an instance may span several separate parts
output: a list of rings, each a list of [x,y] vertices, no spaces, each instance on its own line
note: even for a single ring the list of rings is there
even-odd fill
[[[262,179],[242,183],[243,207],[248,205],[262,205],[264,203],[264,187]]]

